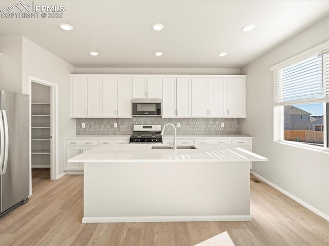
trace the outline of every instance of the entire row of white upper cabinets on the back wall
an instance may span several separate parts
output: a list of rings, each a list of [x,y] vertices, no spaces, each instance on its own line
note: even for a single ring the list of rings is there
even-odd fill
[[[167,118],[246,117],[245,75],[136,76],[71,75],[71,117],[130,118],[133,98],[162,99]]]

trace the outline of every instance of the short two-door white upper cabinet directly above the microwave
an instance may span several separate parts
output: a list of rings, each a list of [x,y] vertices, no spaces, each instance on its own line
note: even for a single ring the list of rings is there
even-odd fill
[[[133,78],[133,98],[162,98],[162,78]]]

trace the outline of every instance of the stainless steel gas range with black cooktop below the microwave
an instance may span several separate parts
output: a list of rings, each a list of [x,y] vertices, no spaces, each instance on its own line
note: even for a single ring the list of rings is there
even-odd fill
[[[161,125],[134,125],[134,134],[130,136],[130,144],[162,143]]]

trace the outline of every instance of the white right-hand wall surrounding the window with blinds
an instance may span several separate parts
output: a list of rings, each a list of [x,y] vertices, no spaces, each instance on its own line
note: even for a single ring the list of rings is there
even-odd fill
[[[329,16],[243,67],[247,75],[247,118],[241,133],[251,135],[253,151],[268,162],[253,172],[329,219],[329,154],[273,142],[273,73],[270,67],[329,40]]]

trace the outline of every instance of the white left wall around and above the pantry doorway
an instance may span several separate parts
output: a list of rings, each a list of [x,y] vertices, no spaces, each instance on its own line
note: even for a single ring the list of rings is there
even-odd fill
[[[63,137],[76,134],[76,120],[70,118],[70,78],[75,67],[23,37],[23,93],[29,93],[29,76],[58,84],[59,89],[59,174],[63,173]]]

